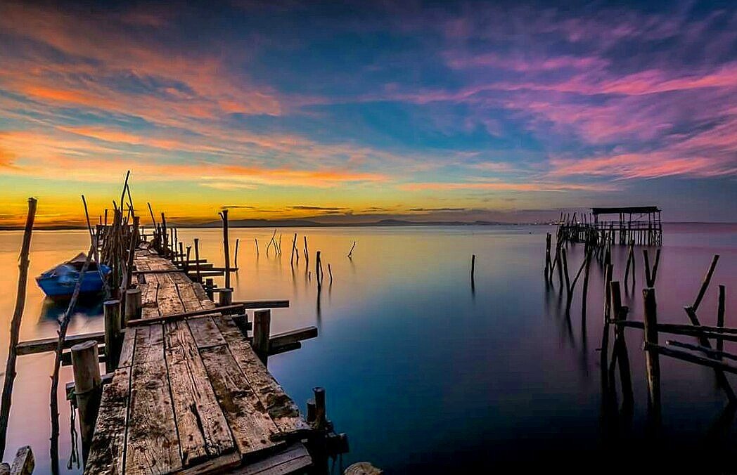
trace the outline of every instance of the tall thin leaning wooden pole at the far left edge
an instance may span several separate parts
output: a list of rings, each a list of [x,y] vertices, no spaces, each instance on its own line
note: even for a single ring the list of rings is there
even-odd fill
[[[10,320],[10,348],[7,351],[7,363],[5,365],[5,382],[2,388],[2,401],[0,404],[0,461],[5,453],[5,434],[7,433],[8,418],[10,418],[10,404],[13,402],[13,383],[15,382],[15,361],[18,358],[15,353],[15,345],[21,335],[21,319],[23,309],[26,306],[26,285],[28,280],[28,260],[31,248],[31,234],[33,222],[36,217],[35,198],[28,199],[28,215],[26,217],[26,228],[23,232],[23,244],[21,244],[21,257],[18,262],[18,292],[15,295],[15,311],[13,319]]]

